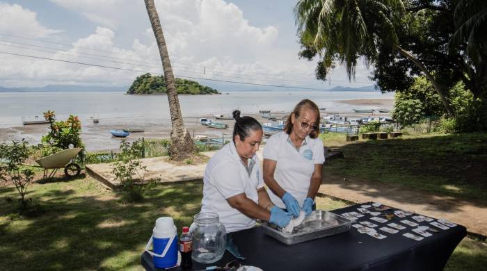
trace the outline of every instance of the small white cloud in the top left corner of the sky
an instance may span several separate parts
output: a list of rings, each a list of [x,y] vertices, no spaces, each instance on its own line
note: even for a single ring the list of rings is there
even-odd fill
[[[0,2],[0,33],[45,38],[60,32],[42,26],[38,22],[35,12],[17,4],[10,5]]]

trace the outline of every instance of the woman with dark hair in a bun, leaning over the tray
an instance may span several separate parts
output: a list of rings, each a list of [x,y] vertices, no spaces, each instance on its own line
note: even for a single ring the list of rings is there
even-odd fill
[[[255,219],[285,227],[291,214],[274,206],[264,188],[255,152],[262,142],[262,126],[234,110],[232,141],[216,151],[203,178],[202,212],[218,213],[227,233],[255,226]]]

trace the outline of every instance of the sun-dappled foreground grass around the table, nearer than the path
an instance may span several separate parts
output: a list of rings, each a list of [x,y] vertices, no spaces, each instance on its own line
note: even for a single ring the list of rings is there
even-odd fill
[[[90,177],[35,183],[28,197],[35,213],[19,216],[17,192],[0,187],[0,270],[142,270],[140,254],[157,217],[169,215],[181,227],[200,210],[201,182],[165,183],[128,203]],[[317,207],[346,206],[328,198]],[[447,270],[480,270],[487,249],[465,238]]]

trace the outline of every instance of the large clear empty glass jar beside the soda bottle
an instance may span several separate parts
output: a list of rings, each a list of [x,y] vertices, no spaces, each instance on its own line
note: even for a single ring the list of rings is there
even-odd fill
[[[198,263],[214,263],[223,257],[227,236],[225,226],[216,213],[198,213],[194,216],[193,252],[191,258]]]

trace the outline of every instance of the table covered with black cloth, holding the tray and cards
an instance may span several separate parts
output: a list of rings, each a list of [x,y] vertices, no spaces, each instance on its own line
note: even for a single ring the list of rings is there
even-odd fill
[[[342,214],[357,211],[360,205],[349,206],[332,211]],[[383,213],[392,213],[392,209]],[[360,213],[360,212],[358,212]],[[402,236],[415,227],[410,227],[399,220],[410,220],[408,216],[400,218],[395,216],[385,223],[369,220],[372,215],[365,214],[357,221],[369,221],[379,227],[395,222],[405,226],[399,233],[385,233],[385,239],[378,240],[365,233],[359,233],[356,228],[335,236],[319,238],[296,245],[285,245],[266,235],[261,227],[255,227],[233,233],[234,243],[239,247],[246,261],[246,265],[254,265],[263,270],[442,270],[454,251],[456,245],[466,236],[466,229],[457,225],[451,229],[432,233],[433,236],[416,241]],[[428,222],[418,222],[420,225],[429,225]],[[206,266],[223,266],[235,258],[225,251],[223,258],[213,264],[202,265],[193,261],[193,270],[202,270]],[[152,264],[152,258],[147,252],[141,256],[142,265],[146,270],[158,270]],[[171,270],[179,270],[173,268]]]

